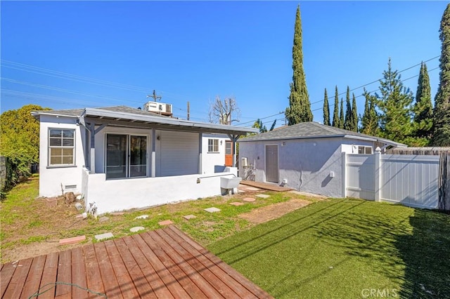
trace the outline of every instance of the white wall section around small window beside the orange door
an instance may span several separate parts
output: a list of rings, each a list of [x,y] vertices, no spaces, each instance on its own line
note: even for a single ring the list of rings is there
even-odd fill
[[[219,140],[219,152],[208,152],[208,139]],[[230,140],[230,138],[228,138],[228,136],[226,135],[203,134],[202,140],[203,173],[214,173],[216,172],[216,168],[225,167],[225,142],[227,140]]]

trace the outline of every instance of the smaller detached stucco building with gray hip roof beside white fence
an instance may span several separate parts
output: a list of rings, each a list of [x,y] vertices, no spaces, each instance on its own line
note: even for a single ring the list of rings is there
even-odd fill
[[[387,147],[406,147],[316,122],[285,126],[238,142],[241,178],[328,197],[345,197],[342,153],[373,154],[376,147],[382,152]]]

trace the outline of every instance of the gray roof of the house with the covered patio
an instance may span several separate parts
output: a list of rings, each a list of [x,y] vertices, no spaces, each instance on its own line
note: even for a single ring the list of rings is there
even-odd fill
[[[108,124],[112,126],[153,127],[174,131],[225,133],[232,135],[245,135],[246,133],[256,133],[258,131],[256,128],[209,124],[165,117],[153,112],[147,112],[145,110],[127,106],[46,110],[32,112],[32,114],[37,118],[39,118],[40,115],[76,117],[79,119],[80,124],[92,122],[94,124]]]

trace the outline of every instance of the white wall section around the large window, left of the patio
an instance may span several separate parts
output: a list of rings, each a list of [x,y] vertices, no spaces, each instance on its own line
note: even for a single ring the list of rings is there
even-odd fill
[[[49,128],[75,129],[75,166],[49,166]],[[83,133],[82,133],[83,132]],[[39,196],[53,197],[64,192],[82,192],[82,168],[84,166],[84,128],[77,126],[72,117],[41,115],[39,128]],[[65,189],[76,185],[74,189]]]

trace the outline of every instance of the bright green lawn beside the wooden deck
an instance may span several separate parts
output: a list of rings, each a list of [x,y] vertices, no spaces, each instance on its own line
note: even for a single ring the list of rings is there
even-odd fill
[[[450,215],[320,201],[210,251],[275,298],[450,298]]]

